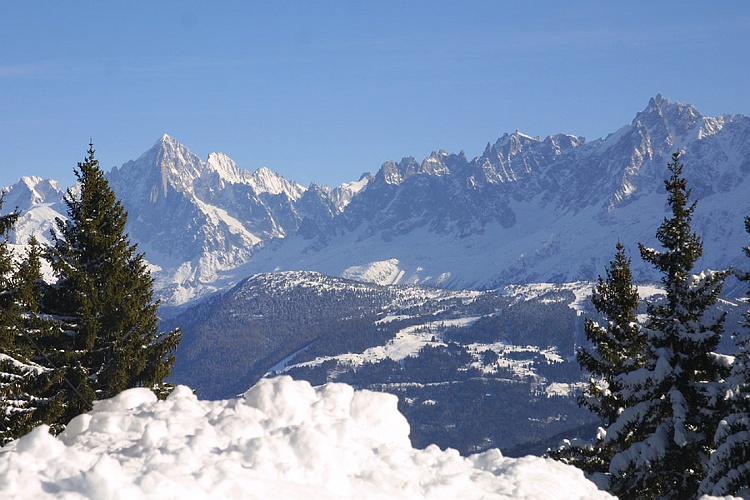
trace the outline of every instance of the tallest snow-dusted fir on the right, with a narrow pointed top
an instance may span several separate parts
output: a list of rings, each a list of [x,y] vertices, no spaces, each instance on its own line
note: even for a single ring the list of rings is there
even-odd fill
[[[663,275],[666,300],[648,304],[647,366],[620,376],[625,409],[606,437],[634,441],[610,462],[611,491],[623,497],[695,497],[713,446],[709,429],[718,424],[725,368],[713,351],[724,317],[709,310],[728,273],[691,275],[703,244],[691,230],[696,203],[682,169],[675,153],[665,180],[672,217],[656,233],[665,250],[640,245],[642,258]]]

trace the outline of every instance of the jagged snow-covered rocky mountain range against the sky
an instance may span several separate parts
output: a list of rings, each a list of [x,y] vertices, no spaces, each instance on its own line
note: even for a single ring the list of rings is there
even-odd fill
[[[471,160],[440,150],[387,161],[337,188],[250,173],[222,153],[203,161],[167,135],[108,178],[159,295],[178,305],[274,270],[450,288],[588,280],[618,239],[636,278],[651,279],[636,244],[656,244],[675,150],[699,200],[698,266],[743,266],[750,117],[707,117],[661,95],[606,138],[515,132]],[[54,181],[26,177],[6,189],[5,208],[23,211],[15,243],[44,238],[64,213]]]

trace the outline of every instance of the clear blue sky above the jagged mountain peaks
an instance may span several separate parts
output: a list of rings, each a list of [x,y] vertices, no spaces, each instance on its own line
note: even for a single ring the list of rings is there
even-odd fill
[[[746,1],[34,1],[0,7],[0,186],[164,133],[302,184],[520,130],[604,137],[657,93],[750,114]]]

